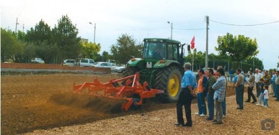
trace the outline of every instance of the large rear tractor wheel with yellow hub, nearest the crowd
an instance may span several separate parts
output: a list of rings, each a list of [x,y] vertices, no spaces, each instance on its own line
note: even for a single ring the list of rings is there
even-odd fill
[[[161,102],[169,103],[178,100],[181,91],[181,74],[179,68],[174,65],[167,66],[159,70],[155,76],[153,87],[155,89],[164,89],[164,94],[158,94]]]

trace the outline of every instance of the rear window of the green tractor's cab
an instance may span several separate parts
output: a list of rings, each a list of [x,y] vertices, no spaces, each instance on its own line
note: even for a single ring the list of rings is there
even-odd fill
[[[143,58],[154,58],[154,59],[166,58],[166,43],[145,42]]]

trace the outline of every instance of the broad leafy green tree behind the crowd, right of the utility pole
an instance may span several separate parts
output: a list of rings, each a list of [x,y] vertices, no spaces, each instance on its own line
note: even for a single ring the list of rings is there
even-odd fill
[[[220,55],[227,55],[229,60],[237,61],[238,67],[240,61],[259,53],[257,39],[252,40],[244,35],[237,37],[227,33],[224,36],[218,36],[217,43],[218,47],[215,47],[215,50]]]

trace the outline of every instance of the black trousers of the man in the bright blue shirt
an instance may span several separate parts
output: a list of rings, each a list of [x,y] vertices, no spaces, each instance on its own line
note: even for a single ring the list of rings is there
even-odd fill
[[[177,122],[184,124],[182,107],[184,106],[187,123],[192,124],[191,103],[193,96],[188,88],[182,88],[176,104]]]

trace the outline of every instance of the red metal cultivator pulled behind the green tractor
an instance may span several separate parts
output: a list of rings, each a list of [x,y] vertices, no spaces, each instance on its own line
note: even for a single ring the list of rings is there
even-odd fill
[[[125,85],[119,86],[119,83],[124,83]],[[128,110],[133,104],[133,98],[128,98],[129,96],[139,95],[139,102],[134,104],[142,105],[144,98],[152,98],[156,94],[164,93],[163,90],[152,88],[148,89],[147,86],[147,82],[144,82],[143,85],[139,82],[139,73],[136,73],[135,75],[125,78],[117,80],[112,79],[104,84],[100,83],[97,78],[94,82],[85,82],[78,85],[74,83],[73,90],[75,93],[81,93],[83,89],[87,89],[88,93],[97,97],[127,100],[127,102],[122,105],[122,109]],[[100,92],[102,92],[102,94],[100,94]]]

